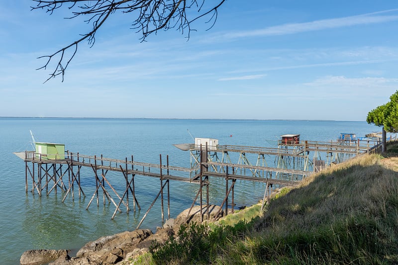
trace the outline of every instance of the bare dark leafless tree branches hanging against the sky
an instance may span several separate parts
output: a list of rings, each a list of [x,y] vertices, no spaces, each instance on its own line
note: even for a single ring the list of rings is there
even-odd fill
[[[117,10],[121,13],[132,13],[136,17],[133,19],[131,29],[137,30],[141,34],[139,38],[141,41],[152,33],[157,33],[159,30],[169,30],[176,28],[182,34],[188,31],[188,38],[190,37],[191,29],[190,23],[199,19],[200,17],[211,14],[207,22],[213,21],[213,27],[217,19],[217,9],[226,0],[217,0],[218,4],[212,5],[208,10],[202,11],[205,0],[32,0],[35,6],[31,6],[31,10],[43,9],[50,15],[57,9],[65,5],[71,10],[71,16],[68,19],[76,17],[85,17],[86,23],[92,23],[93,29],[85,34],[75,42],[65,46],[51,55],[41,56],[39,58],[47,58],[47,62],[39,69],[47,69],[52,60],[58,60],[55,70],[50,74],[50,77],[45,81],[62,75],[62,82],[69,63],[77,53],[78,45],[87,40],[90,47],[95,43],[95,35],[97,30],[102,26],[106,19],[114,14]],[[209,1],[209,0],[207,0]],[[197,12],[192,15],[197,10]],[[209,29],[208,28],[208,29]],[[66,51],[72,49],[72,55],[66,56]],[[74,49],[74,50],[73,50]],[[55,59],[57,58],[57,59]],[[44,83],[45,83],[44,82]]]

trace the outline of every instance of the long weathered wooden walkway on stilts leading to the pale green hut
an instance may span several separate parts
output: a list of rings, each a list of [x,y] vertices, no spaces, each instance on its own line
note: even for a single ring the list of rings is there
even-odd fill
[[[288,169],[277,169],[277,168],[269,168],[269,167],[259,167],[259,166],[247,166],[247,165],[238,165],[238,164],[228,164],[228,163],[216,163],[216,162],[208,162],[207,160],[207,152],[201,152],[203,160],[197,167],[194,168],[184,168],[184,167],[175,167],[169,165],[168,156],[166,158],[166,164],[162,163],[162,156],[159,156],[159,164],[153,163],[143,163],[137,162],[133,160],[131,157],[130,160],[127,158],[124,160],[118,159],[109,159],[104,158],[102,156],[87,156],[81,155],[79,153],[70,153],[66,152],[65,159],[46,159],[46,154],[36,154],[35,152],[26,151],[24,152],[24,162],[25,162],[25,187],[26,192],[28,192],[28,179],[32,181],[31,192],[35,193],[35,190],[42,196],[43,191],[45,190],[45,194],[48,196],[51,192],[57,192],[57,190],[61,190],[63,192],[63,202],[65,199],[70,196],[72,200],[75,199],[75,195],[81,198],[82,196],[86,196],[84,192],[84,186],[81,181],[81,169],[83,167],[91,168],[93,170],[93,181],[96,184],[96,190],[92,195],[89,204],[86,209],[89,209],[93,201],[97,201],[97,205],[99,206],[99,191],[103,193],[103,202],[107,199],[109,203],[112,203],[115,206],[114,213],[112,215],[112,219],[114,218],[117,212],[121,212],[121,206],[125,206],[126,212],[131,210],[131,206],[129,203],[129,195],[132,196],[133,201],[133,210],[136,208],[141,209],[139,202],[136,198],[136,187],[134,184],[134,177],[142,176],[142,177],[154,177],[160,180],[160,190],[158,194],[155,196],[154,201],[151,206],[147,210],[143,219],[137,226],[137,228],[141,225],[142,221],[145,219],[146,215],[151,210],[152,206],[156,202],[156,200],[161,197],[161,209],[162,209],[162,220],[164,220],[164,193],[167,193],[167,208],[168,208],[168,218],[170,218],[170,180],[187,182],[193,184],[199,184],[199,190],[196,194],[195,200],[191,206],[194,206],[196,201],[199,199],[201,207],[203,207],[203,197],[202,192],[206,191],[206,203],[205,207],[208,207],[208,186],[209,186],[209,177],[221,177],[225,179],[228,186],[228,180],[231,181],[229,186],[229,190],[226,191],[224,201],[221,205],[223,207],[225,205],[225,210],[227,213],[227,205],[228,205],[228,197],[231,197],[232,200],[232,211],[234,205],[234,196],[233,189],[236,180],[245,180],[245,181],[255,181],[266,183],[265,196],[270,195],[272,192],[272,186],[274,184],[277,185],[296,185],[298,184],[298,179],[293,178],[292,180],[284,180],[280,178],[272,178],[272,177],[253,177],[238,174],[239,170],[242,169],[250,169],[250,170],[268,170],[273,172],[278,172],[281,174],[295,174],[308,176],[310,173],[304,171],[294,171]],[[21,154],[19,154],[21,157]],[[36,166],[35,166],[36,165]],[[211,166],[217,166],[223,168],[225,173],[218,173],[211,170]],[[199,172],[194,177],[191,177],[192,172]],[[112,178],[107,177],[108,172],[118,172],[122,173],[122,176],[125,179],[125,187],[124,192],[118,192],[120,187],[115,188],[114,183],[112,184]],[[277,175],[275,175],[277,176]],[[120,182],[120,181],[119,181]],[[94,183],[94,182],[92,182]],[[232,193],[231,193],[232,191]],[[113,193],[112,193],[113,192]],[[78,195],[77,195],[78,194]],[[230,195],[231,194],[231,195]]]

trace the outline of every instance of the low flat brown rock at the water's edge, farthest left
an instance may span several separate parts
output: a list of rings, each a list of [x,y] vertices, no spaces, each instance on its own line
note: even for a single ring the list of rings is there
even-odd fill
[[[55,261],[60,257],[68,257],[68,250],[28,250],[25,251],[19,263],[21,265],[40,265]]]

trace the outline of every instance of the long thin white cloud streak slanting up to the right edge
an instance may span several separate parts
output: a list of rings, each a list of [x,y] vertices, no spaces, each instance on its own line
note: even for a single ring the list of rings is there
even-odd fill
[[[223,34],[222,38],[236,39],[236,38],[258,37],[258,36],[287,35],[287,34],[296,34],[307,31],[316,31],[316,30],[340,28],[340,27],[363,25],[363,24],[384,23],[384,22],[396,21],[398,20],[398,16],[374,15],[374,14],[392,12],[396,10],[398,9],[390,9],[380,12],[340,17],[340,18],[321,19],[321,20],[315,20],[304,23],[289,23],[278,26],[271,26],[263,29],[250,30],[250,31],[232,32],[232,33]]]

